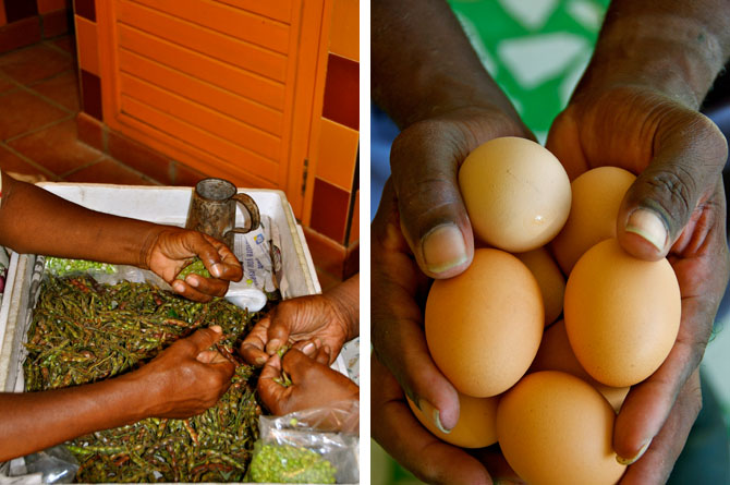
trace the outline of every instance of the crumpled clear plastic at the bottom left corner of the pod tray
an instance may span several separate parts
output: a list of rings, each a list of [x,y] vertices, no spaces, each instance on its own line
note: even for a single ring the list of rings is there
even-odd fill
[[[16,483],[73,483],[77,470],[78,462],[62,445],[10,462],[10,476],[24,480]]]

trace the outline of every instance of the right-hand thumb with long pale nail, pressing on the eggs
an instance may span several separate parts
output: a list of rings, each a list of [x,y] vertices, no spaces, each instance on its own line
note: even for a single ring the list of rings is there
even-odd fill
[[[699,117],[691,136],[686,130],[659,135],[652,162],[623,197],[617,237],[635,257],[667,256],[697,205],[715,191],[727,143],[709,119]]]

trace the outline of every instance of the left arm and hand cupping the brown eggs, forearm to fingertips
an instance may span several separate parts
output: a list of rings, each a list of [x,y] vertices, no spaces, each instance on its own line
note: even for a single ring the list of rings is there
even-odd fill
[[[375,0],[370,21],[373,99],[402,130],[390,150],[391,179],[373,222],[373,348],[405,395],[422,410],[433,410],[428,415],[436,426],[450,429],[459,419],[459,398],[426,345],[424,275],[450,278],[472,262],[474,235],[458,182],[462,161],[492,138],[534,136],[485,71],[445,0]],[[397,442],[399,433],[377,436],[418,476],[488,480],[476,460],[458,458],[464,451],[449,447],[452,459],[428,460],[415,444]],[[460,461],[473,469],[457,470]]]

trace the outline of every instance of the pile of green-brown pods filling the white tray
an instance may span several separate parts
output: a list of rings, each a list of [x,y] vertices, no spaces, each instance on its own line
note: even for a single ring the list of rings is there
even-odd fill
[[[235,342],[255,323],[217,299],[193,303],[156,287],[90,277],[50,276],[40,288],[24,363],[29,391],[113,377],[157,355],[196,328],[220,325],[218,350],[232,360]],[[240,482],[258,436],[260,408],[253,367],[238,362],[216,407],[187,420],[147,419],[68,442],[78,482]]]

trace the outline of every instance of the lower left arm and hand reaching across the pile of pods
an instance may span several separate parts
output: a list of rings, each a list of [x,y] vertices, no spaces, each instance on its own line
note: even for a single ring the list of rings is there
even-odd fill
[[[234,366],[207,350],[219,327],[197,330],[139,369],[95,384],[0,393],[0,461],[145,417],[188,417],[226,392]]]

